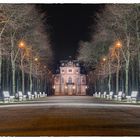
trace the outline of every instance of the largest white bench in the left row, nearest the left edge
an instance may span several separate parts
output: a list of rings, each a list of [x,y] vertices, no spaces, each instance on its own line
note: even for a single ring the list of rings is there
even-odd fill
[[[15,96],[10,96],[9,91],[3,91],[3,101],[4,103],[13,102]]]

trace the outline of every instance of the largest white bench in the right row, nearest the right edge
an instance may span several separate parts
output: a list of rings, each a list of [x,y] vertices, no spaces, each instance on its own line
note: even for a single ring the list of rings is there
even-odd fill
[[[126,96],[127,102],[137,102],[138,91],[132,91],[130,96]]]

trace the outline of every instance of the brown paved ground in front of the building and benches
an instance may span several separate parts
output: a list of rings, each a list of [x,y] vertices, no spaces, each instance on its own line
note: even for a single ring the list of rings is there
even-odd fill
[[[1,136],[140,136],[140,105],[50,96],[0,105]]]

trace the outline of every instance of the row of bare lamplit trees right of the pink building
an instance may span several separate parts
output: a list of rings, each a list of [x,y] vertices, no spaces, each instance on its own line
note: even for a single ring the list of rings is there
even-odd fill
[[[140,5],[105,5],[96,15],[91,41],[79,43],[89,89],[140,92]]]

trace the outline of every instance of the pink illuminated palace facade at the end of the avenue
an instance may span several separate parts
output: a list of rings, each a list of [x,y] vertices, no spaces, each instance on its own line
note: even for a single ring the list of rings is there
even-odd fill
[[[60,72],[54,75],[54,95],[86,95],[86,75],[80,73],[78,61],[60,63]]]

